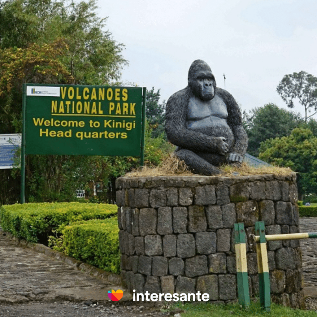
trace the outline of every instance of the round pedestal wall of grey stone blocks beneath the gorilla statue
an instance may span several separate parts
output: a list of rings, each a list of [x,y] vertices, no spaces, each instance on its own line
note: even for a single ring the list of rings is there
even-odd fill
[[[234,223],[247,233],[250,294],[258,294],[255,222],[299,232],[296,176],[117,179],[123,285],[136,293],[208,293],[237,299]],[[271,296],[303,307],[299,240],[268,242]]]

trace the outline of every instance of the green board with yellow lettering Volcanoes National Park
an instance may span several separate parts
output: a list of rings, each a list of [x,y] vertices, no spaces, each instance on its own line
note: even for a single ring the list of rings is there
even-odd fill
[[[25,154],[141,156],[144,88],[25,85]]]

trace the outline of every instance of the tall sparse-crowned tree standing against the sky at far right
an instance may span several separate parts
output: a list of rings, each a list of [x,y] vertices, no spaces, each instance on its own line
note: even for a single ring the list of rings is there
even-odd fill
[[[294,108],[293,99],[299,100],[305,108],[305,122],[317,113],[317,77],[304,71],[288,74],[283,77],[276,90],[289,108]],[[307,116],[307,111],[312,109],[314,113]]]

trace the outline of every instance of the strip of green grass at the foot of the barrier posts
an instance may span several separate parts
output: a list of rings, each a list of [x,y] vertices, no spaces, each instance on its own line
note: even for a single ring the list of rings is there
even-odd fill
[[[180,313],[182,317],[317,317],[317,313],[311,310],[292,309],[275,304],[272,304],[271,313],[268,314],[262,310],[259,302],[251,303],[248,310],[240,308],[238,304],[210,305],[208,303],[202,303],[197,305],[184,304],[184,306],[179,304],[174,307],[184,310],[184,312]]]

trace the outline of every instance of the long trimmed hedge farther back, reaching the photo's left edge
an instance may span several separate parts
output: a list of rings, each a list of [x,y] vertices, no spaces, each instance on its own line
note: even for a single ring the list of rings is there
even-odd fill
[[[0,223],[4,231],[17,238],[47,245],[52,230],[75,221],[113,217],[117,208],[110,204],[77,202],[2,205]]]

